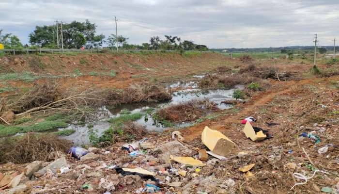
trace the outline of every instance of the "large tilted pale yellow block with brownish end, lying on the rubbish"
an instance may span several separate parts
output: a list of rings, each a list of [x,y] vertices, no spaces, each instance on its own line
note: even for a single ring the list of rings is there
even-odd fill
[[[201,141],[213,153],[220,156],[227,156],[235,146],[234,142],[217,130],[205,127],[201,133]]]

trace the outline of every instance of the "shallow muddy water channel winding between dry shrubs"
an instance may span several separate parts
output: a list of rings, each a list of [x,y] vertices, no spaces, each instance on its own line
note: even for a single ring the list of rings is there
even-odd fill
[[[76,131],[64,137],[65,139],[72,140],[76,145],[84,145],[89,143],[89,134],[88,127],[93,126],[93,129],[97,131],[98,134],[103,133],[111,125],[107,120],[109,118],[121,116],[122,110],[129,110],[131,113],[142,113],[143,116],[134,121],[139,125],[144,126],[148,130],[155,130],[161,132],[165,127],[157,122],[154,122],[150,113],[155,113],[161,108],[168,107],[170,105],[179,104],[182,102],[190,101],[193,99],[204,99],[208,98],[209,100],[215,102],[219,109],[228,109],[231,108],[229,105],[222,104],[221,101],[225,99],[232,99],[232,93],[234,89],[231,90],[200,90],[198,89],[197,82],[191,81],[187,83],[176,82],[169,86],[170,88],[181,88],[177,92],[172,93],[172,100],[166,103],[159,102],[145,102],[145,103],[133,103],[133,104],[123,104],[115,107],[102,107],[98,112],[99,120],[94,122],[86,122],[83,125],[72,124],[65,129],[75,129]],[[237,86],[235,89],[242,89],[242,86]],[[193,125],[192,123],[180,123],[176,124],[175,128],[183,128]],[[63,130],[63,129],[58,129]]]

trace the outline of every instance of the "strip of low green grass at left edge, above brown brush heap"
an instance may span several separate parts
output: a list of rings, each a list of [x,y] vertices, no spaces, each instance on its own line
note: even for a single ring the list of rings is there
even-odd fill
[[[44,121],[27,126],[22,125],[0,125],[0,137],[15,135],[16,133],[42,132],[51,129],[65,128],[68,126],[70,117],[63,114],[53,114]]]

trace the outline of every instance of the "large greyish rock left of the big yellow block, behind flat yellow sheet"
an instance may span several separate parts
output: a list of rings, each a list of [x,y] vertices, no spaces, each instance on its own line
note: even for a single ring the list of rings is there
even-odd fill
[[[158,158],[161,158],[163,163],[167,163],[170,160],[170,155],[175,156],[193,156],[197,154],[196,151],[193,151],[185,147],[182,143],[178,141],[171,141],[166,144],[157,147],[162,154],[159,154]]]

